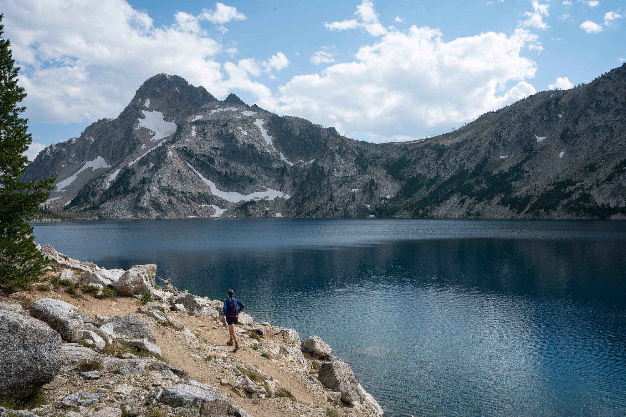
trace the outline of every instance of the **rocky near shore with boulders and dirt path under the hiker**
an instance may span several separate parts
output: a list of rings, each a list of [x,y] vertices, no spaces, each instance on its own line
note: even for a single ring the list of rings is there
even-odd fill
[[[0,296],[0,399],[23,408],[0,417],[383,414],[318,336],[242,313],[233,353],[222,302],[160,288],[155,264],[103,269],[39,249],[51,260],[40,282]]]

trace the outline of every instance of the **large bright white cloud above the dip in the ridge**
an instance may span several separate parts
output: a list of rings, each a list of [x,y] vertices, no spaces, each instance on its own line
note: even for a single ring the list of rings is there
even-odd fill
[[[362,46],[352,62],[295,76],[277,98],[258,104],[354,138],[439,134],[534,94],[526,79],[536,64],[520,53],[535,42],[524,29],[445,42],[438,29],[412,26]]]

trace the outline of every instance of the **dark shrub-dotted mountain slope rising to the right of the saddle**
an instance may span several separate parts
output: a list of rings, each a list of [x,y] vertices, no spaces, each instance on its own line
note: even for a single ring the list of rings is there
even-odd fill
[[[409,146],[380,216],[623,218],[626,64]]]

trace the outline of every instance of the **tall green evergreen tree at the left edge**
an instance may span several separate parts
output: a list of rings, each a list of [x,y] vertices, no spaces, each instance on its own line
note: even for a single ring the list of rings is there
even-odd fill
[[[28,159],[22,156],[31,144],[28,119],[19,117],[26,97],[18,86],[19,67],[14,68],[11,43],[3,39],[0,14],[0,284],[24,286],[39,278],[47,263],[30,236],[33,228],[24,217],[34,213],[49,196],[54,178],[24,183]]]

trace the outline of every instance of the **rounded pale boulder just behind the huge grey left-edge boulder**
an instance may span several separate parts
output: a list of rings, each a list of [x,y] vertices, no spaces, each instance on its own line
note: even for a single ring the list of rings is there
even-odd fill
[[[42,298],[30,306],[31,316],[48,323],[68,342],[78,342],[83,337],[83,319],[78,307],[59,299]]]

